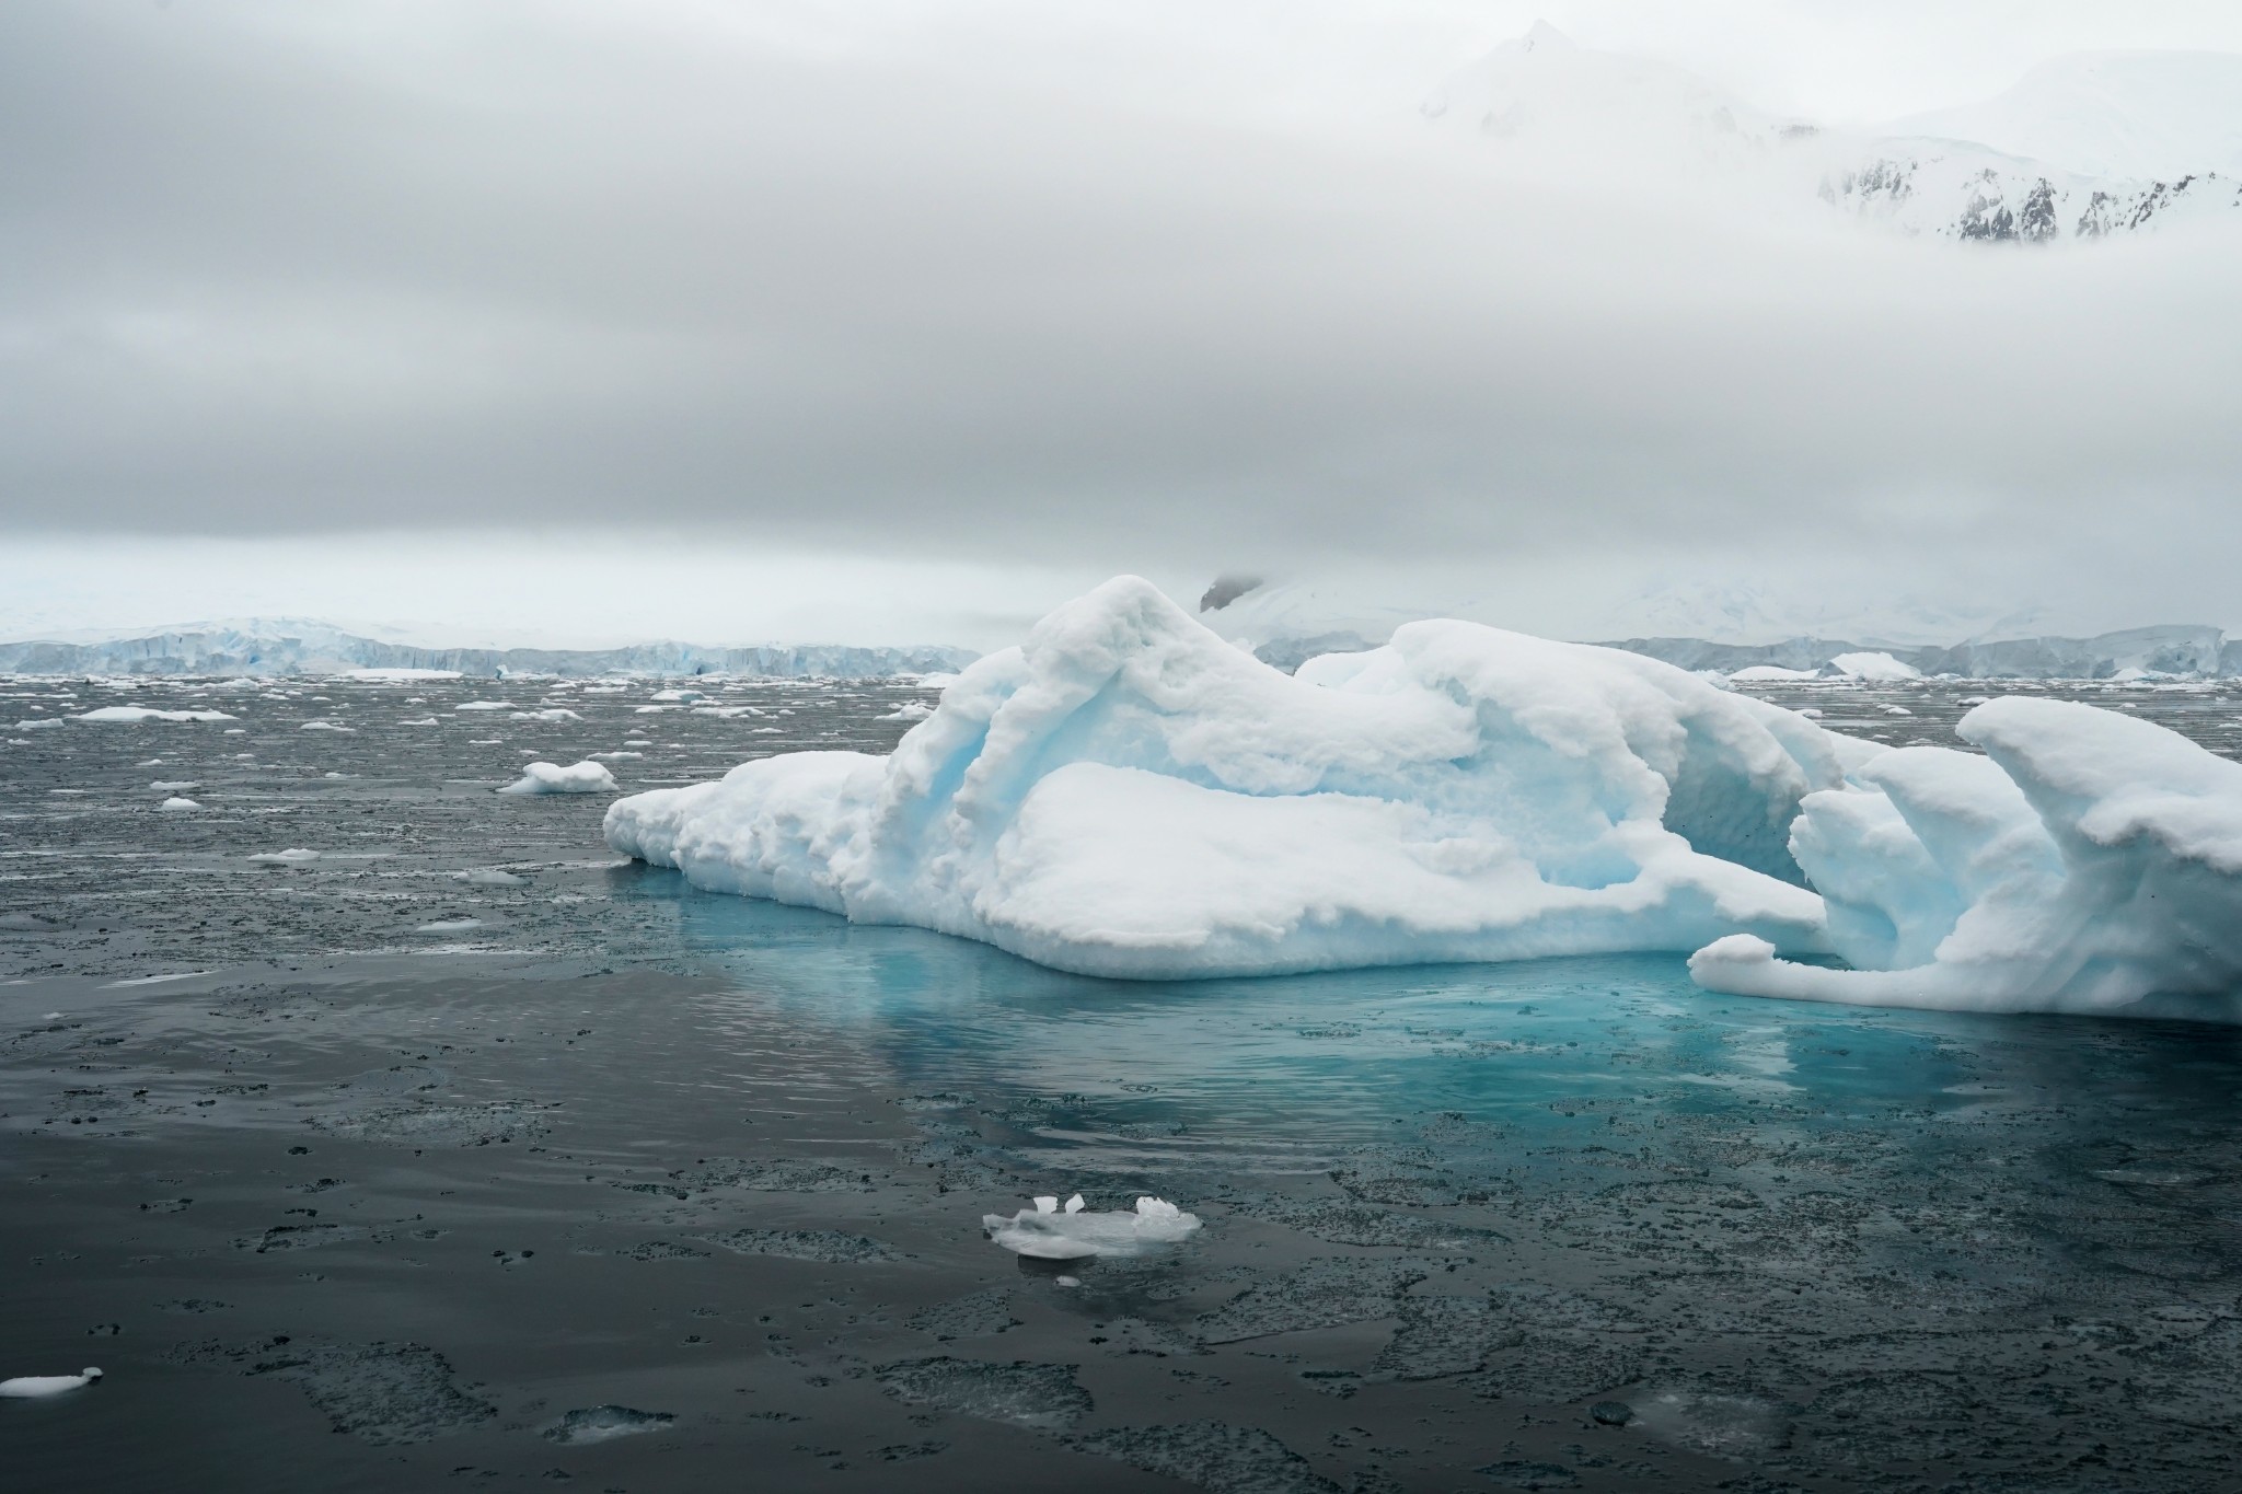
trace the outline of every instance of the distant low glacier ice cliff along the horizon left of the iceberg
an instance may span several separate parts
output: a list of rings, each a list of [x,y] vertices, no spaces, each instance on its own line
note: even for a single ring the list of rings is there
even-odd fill
[[[957,647],[854,647],[762,643],[704,647],[632,643],[605,650],[437,647],[368,638],[303,618],[186,623],[117,636],[0,643],[4,674],[341,674],[348,670],[453,670],[457,674],[751,674],[765,679],[877,679],[953,672],[978,654]]]

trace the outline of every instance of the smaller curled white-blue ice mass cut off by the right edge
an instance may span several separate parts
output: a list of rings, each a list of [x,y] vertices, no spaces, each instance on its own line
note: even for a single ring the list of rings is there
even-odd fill
[[[1984,757],[1894,748],[1800,802],[1791,849],[1852,970],[1735,934],[1690,959],[1697,983],[1868,1006],[2242,1015],[2242,764],[2069,701],[1989,701],[1957,732]]]

